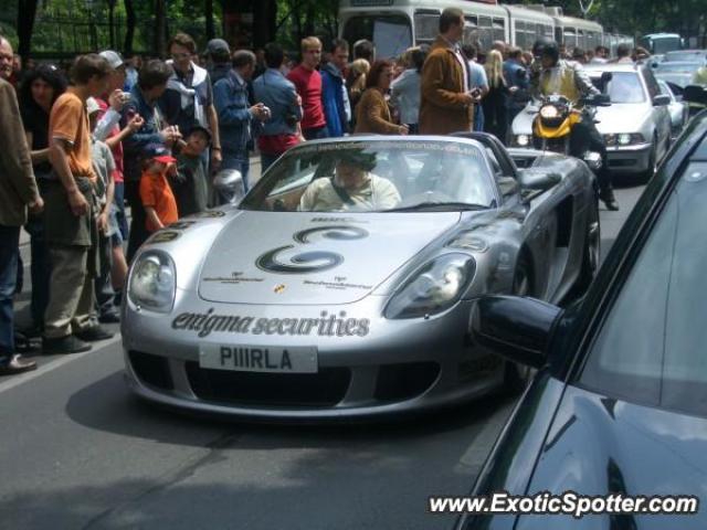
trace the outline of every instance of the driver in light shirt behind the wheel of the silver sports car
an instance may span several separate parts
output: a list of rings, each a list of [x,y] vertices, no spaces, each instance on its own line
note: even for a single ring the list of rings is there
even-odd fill
[[[335,173],[313,181],[299,200],[302,212],[390,210],[400,193],[388,179],[373,174],[376,155],[345,150],[337,153]]]

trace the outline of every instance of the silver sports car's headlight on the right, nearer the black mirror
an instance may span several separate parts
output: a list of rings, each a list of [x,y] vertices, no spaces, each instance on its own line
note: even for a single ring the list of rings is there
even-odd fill
[[[476,262],[467,254],[445,254],[432,259],[393,294],[383,315],[401,319],[442,312],[458,301],[475,271]]]

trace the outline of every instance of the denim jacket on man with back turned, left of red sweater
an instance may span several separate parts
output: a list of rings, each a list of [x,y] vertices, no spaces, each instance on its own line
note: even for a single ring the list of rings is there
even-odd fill
[[[253,92],[255,100],[265,104],[271,112],[271,118],[263,124],[261,135],[294,135],[294,121],[302,120],[302,107],[297,105],[294,83],[279,70],[267,68],[253,82]]]

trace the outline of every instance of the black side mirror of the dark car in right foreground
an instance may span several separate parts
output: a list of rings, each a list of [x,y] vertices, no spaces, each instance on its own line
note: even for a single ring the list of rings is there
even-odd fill
[[[472,314],[473,339],[531,368],[547,363],[547,347],[562,310],[535,298],[484,296]]]

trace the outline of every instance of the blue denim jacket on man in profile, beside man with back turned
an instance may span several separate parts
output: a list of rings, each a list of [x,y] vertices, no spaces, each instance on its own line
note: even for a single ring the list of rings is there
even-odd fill
[[[243,155],[251,139],[253,115],[247,99],[247,83],[234,70],[213,85],[213,105],[219,115],[221,149]]]

